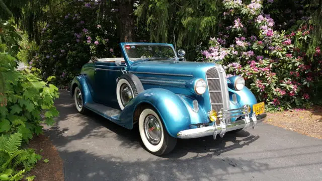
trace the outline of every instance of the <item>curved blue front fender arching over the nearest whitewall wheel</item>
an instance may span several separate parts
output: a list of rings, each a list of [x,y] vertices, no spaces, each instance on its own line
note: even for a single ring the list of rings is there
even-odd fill
[[[154,107],[172,137],[177,137],[179,131],[189,129],[190,115],[184,102],[178,95],[163,88],[150,88],[141,92],[126,105],[119,119],[132,123],[134,111],[144,103]]]

